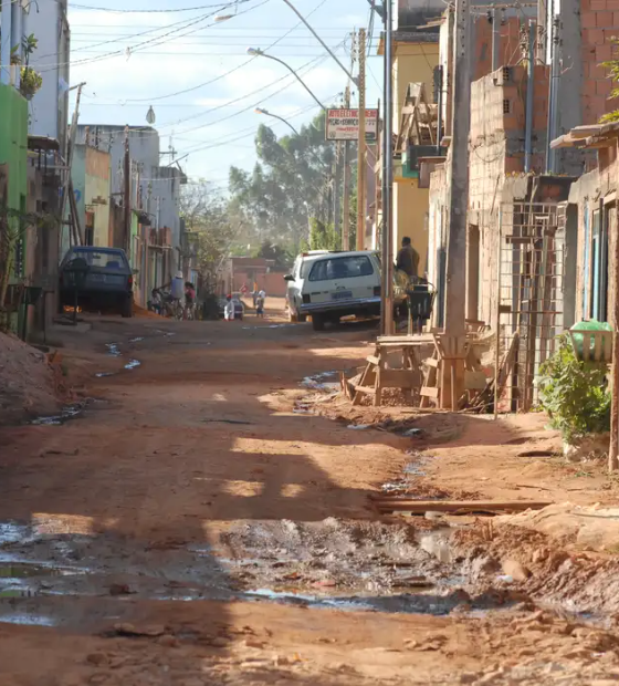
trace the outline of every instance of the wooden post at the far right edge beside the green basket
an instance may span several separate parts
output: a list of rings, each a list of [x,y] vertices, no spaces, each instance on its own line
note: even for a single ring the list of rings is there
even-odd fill
[[[619,153],[619,138],[616,142]],[[616,183],[619,184],[619,158],[615,158]],[[618,186],[619,188],[619,186]],[[619,469],[619,208],[615,210],[615,235],[610,237],[612,242],[612,267],[610,278],[612,283],[608,289],[613,294],[612,313],[612,368],[611,368],[611,396],[610,396],[610,449],[608,450],[608,471]]]

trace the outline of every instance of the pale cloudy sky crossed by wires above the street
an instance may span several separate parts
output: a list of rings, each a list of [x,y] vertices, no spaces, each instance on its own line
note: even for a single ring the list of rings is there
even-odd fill
[[[369,27],[367,0],[294,0],[294,6],[348,67],[350,33]],[[70,0],[69,21],[71,84],[86,82],[80,123],[143,126],[151,106],[161,152],[171,143],[190,178],[207,179],[222,191],[230,165],[251,169],[255,164],[261,123],[277,136],[290,133],[285,123],[256,114],[255,107],[296,128],[319,113],[285,66],[252,58],[248,48],[284,60],[327,106],[340,104],[347,83],[283,0]],[[380,97],[379,31],[376,17],[368,107]],[[355,105],[354,86],[353,93]],[[161,156],[162,164],[169,160]]]

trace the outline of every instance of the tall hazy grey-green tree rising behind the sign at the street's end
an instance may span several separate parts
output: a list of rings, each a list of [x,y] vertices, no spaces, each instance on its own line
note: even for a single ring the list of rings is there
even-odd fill
[[[277,138],[261,125],[253,170],[230,168],[231,204],[242,211],[259,242],[277,242],[296,251],[307,237],[308,219],[333,220],[331,178],[333,143],[325,139],[325,116],[297,134]]]

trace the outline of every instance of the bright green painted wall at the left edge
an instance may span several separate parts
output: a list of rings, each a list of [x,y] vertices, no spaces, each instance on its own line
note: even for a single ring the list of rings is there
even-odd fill
[[[28,102],[11,85],[0,84],[0,165],[9,167],[8,205],[25,211],[28,193]],[[25,240],[25,238],[24,238]],[[25,246],[21,250],[21,277],[25,273]]]

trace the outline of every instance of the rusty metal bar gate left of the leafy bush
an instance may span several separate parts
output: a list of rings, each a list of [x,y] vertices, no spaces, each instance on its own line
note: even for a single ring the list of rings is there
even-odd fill
[[[563,332],[566,204],[501,207],[495,305],[495,413],[537,403],[539,366]]]

